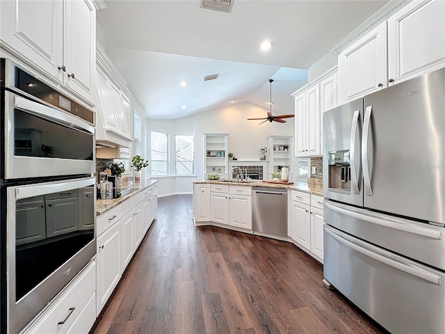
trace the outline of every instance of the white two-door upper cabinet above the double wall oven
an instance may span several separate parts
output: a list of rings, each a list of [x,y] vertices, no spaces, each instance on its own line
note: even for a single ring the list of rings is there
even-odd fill
[[[1,47],[90,105],[96,12],[90,0],[1,1]]]

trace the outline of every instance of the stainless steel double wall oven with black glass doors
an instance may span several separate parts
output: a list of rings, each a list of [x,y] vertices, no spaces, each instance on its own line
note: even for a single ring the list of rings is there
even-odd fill
[[[1,333],[19,332],[90,262],[94,113],[1,58]]]

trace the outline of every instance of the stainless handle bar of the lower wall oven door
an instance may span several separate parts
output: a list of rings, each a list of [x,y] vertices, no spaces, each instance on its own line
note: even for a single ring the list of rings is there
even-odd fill
[[[72,189],[83,188],[95,184],[95,177],[83,177],[74,180],[62,180],[56,182],[47,182],[31,184],[27,186],[17,186],[15,188],[15,199],[30,198],[34,196],[47,195],[48,193],[60,193]]]

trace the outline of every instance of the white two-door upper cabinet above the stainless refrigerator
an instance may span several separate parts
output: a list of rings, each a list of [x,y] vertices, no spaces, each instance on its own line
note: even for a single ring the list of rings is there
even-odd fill
[[[380,24],[361,35],[369,22]],[[445,1],[389,1],[331,51],[339,52],[340,104],[444,67]]]

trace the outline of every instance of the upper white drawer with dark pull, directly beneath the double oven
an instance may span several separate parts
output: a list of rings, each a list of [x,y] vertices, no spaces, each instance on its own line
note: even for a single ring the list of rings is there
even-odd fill
[[[88,267],[74,278],[70,285],[58,300],[44,312],[26,334],[60,334],[66,333],[68,328],[79,317],[84,306],[87,305],[96,288],[96,261],[88,264]],[[63,322],[63,324],[60,324]],[[94,321],[93,321],[94,322]]]

